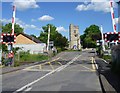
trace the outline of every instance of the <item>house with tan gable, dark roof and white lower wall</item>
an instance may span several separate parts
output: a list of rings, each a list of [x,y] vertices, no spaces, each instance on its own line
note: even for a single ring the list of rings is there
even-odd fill
[[[21,48],[20,51],[29,51],[31,54],[38,54],[44,52],[44,49],[46,49],[46,44],[30,35],[20,33],[17,35],[16,43],[13,47]]]

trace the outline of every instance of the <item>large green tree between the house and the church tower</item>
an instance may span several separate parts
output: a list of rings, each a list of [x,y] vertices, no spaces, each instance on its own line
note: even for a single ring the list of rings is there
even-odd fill
[[[50,26],[50,41],[54,41],[54,45],[56,47],[64,48],[68,46],[68,39],[66,37],[63,37],[62,34],[59,33],[56,30],[56,27],[52,24],[47,24],[46,26],[42,27],[43,31],[41,31],[38,39],[47,44],[48,26]]]

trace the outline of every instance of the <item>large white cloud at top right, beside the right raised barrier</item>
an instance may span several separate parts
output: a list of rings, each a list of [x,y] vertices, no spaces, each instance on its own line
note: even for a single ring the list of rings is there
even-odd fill
[[[116,4],[113,3],[114,7],[116,7]],[[81,4],[76,7],[76,10],[78,11],[87,11],[87,10],[94,10],[94,11],[103,11],[103,12],[110,12],[110,2],[108,0],[100,0],[98,2],[97,0],[91,0],[91,3],[89,4]]]

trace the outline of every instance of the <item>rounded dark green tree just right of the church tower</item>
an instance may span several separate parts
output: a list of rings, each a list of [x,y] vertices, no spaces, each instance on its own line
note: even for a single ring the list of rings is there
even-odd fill
[[[95,48],[96,40],[101,39],[99,26],[91,25],[85,29],[84,34],[80,36],[84,48]]]

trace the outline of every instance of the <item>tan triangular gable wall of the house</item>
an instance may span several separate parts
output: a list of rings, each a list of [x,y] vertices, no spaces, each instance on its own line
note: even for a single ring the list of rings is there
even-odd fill
[[[23,36],[22,34],[16,37],[15,44],[36,44],[34,41],[28,39],[27,37]]]

